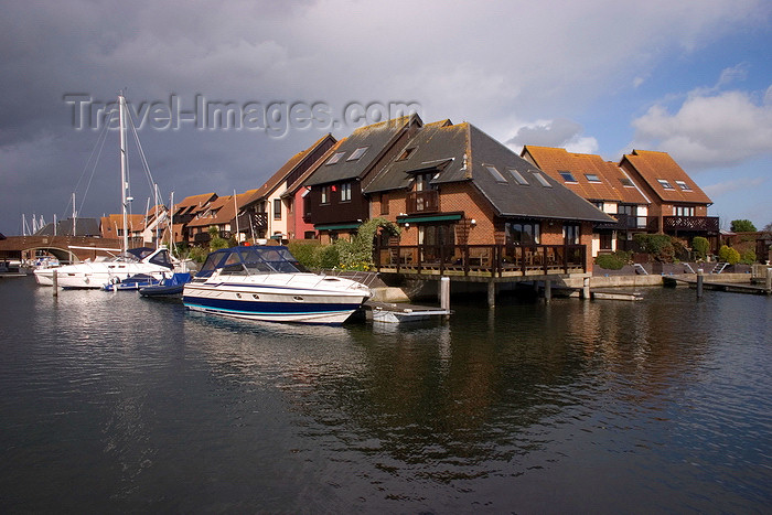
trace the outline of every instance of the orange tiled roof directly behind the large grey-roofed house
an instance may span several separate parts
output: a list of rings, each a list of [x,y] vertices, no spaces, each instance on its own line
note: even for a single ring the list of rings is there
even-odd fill
[[[597,154],[573,153],[566,149],[526,144],[522,157],[530,157],[534,163],[553,179],[577,195],[589,201],[611,201],[629,204],[648,204],[637,187],[625,186],[629,179],[616,163],[604,161]],[[561,172],[570,173],[567,180]],[[588,178],[594,175],[594,180]]]

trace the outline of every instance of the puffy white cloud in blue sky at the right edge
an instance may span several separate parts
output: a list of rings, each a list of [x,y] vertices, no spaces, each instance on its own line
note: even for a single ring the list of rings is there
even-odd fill
[[[657,104],[632,125],[635,147],[668,152],[688,168],[772,153],[772,105],[755,103],[744,92],[690,94],[676,112]]]

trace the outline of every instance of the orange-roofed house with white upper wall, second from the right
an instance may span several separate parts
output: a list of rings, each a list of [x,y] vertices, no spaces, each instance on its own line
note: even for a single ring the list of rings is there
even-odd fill
[[[593,229],[592,255],[626,250],[633,234],[645,233],[651,201],[615,162],[596,154],[526,144],[521,157],[534,163],[603,213],[618,219]]]

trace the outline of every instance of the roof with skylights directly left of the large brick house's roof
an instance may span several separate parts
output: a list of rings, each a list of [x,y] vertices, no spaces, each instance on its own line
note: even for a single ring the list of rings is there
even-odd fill
[[[394,146],[411,125],[422,126],[418,115],[404,116],[356,129],[332,154],[339,155],[333,163],[328,159],[305,181],[307,186],[339,181],[363,179],[372,167]],[[357,157],[357,151],[361,153]]]

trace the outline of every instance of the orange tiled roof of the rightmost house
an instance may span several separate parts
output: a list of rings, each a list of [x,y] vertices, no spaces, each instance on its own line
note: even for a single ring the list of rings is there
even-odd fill
[[[622,157],[620,167],[624,168],[625,163],[632,167],[664,202],[712,204],[710,197],[667,152],[633,150],[632,153]],[[661,180],[667,181],[671,187],[665,187]]]

